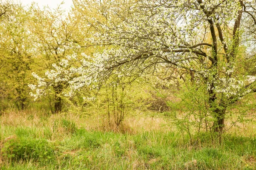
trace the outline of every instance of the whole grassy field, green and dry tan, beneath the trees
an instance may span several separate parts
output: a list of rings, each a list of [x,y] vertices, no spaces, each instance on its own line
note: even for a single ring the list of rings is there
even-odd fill
[[[163,114],[125,119],[111,131],[102,116],[10,112],[1,116],[2,170],[253,170],[256,130],[251,121],[224,134],[223,143],[195,144]]]

